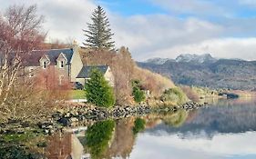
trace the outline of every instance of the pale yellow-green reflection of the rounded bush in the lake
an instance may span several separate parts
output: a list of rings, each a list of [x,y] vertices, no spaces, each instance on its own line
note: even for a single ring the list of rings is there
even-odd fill
[[[188,117],[188,112],[185,110],[179,110],[173,114],[166,114],[162,116],[162,120],[165,124],[169,124],[174,127],[182,125]]]

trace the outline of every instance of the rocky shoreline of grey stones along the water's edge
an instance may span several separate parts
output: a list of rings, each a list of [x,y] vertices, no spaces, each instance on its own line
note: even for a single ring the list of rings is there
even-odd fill
[[[105,119],[127,118],[130,116],[143,116],[152,113],[171,113],[179,109],[191,111],[208,104],[186,103],[177,106],[151,107],[146,104],[138,106],[114,106],[107,109],[96,106],[68,106],[56,110],[54,114],[37,124],[30,124],[20,120],[9,120],[0,124],[0,134],[25,134],[33,130],[34,133],[54,134],[56,131],[77,125],[92,124]]]

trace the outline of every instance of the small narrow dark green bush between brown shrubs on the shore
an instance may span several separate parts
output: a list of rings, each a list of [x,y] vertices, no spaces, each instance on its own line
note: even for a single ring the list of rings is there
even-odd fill
[[[141,85],[138,80],[132,82],[132,95],[135,102],[139,103],[146,99],[144,91],[141,90]]]

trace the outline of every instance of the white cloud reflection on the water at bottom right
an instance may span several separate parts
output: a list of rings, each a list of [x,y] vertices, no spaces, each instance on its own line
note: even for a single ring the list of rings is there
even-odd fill
[[[202,135],[202,134],[199,134]],[[256,158],[255,132],[182,139],[178,134],[140,134],[130,158]],[[142,153],[143,152],[143,153]]]

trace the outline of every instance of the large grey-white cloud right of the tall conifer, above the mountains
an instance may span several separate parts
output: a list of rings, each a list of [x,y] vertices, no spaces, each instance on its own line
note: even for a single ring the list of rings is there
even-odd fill
[[[137,59],[162,48],[197,43],[223,32],[221,25],[193,17],[179,19],[170,15],[135,15],[128,18],[115,16],[112,19],[118,45],[128,45]]]

